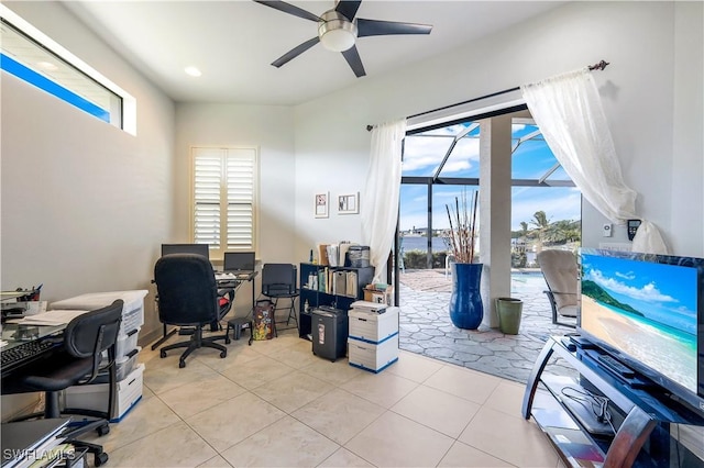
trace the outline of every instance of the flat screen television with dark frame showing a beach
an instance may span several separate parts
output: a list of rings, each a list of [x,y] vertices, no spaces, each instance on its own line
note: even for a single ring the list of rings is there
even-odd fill
[[[583,248],[578,331],[704,415],[704,259]]]

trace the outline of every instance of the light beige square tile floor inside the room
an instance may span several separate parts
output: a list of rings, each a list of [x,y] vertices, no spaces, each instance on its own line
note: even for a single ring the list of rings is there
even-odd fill
[[[405,350],[374,375],[314,356],[295,331],[228,349],[179,369],[178,353],[146,347],[142,400],[94,438],[108,466],[562,467],[520,416],[518,382]]]

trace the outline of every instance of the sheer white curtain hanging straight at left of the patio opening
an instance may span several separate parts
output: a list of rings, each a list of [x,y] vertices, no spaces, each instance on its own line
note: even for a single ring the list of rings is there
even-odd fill
[[[400,155],[406,119],[376,125],[362,193],[362,238],[370,246],[370,263],[376,282],[394,244],[400,194]]]

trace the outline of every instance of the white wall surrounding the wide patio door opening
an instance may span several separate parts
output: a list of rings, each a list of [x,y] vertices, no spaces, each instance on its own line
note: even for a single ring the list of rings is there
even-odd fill
[[[306,257],[317,241],[359,237],[359,216],[332,212],[329,220],[316,220],[310,207],[321,189],[333,194],[364,189],[366,124],[605,59],[612,65],[595,73],[595,79],[625,180],[640,193],[639,213],[661,227],[674,253],[704,256],[702,15],[700,2],[570,3],[502,34],[384,77],[362,78],[352,88],[298,105],[296,255]],[[590,207],[583,220],[584,245],[597,245],[604,220]],[[625,239],[625,227],[619,230],[617,236]]]

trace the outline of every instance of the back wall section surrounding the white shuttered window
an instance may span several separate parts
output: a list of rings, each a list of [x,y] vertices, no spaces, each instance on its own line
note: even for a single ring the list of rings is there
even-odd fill
[[[189,242],[190,148],[257,147],[260,205],[256,257],[262,263],[298,263],[295,239],[295,157],[293,109],[275,105],[195,104],[176,107],[176,235]],[[217,259],[216,259],[217,260]],[[256,281],[256,280],[255,280]],[[258,293],[258,281],[255,282]],[[252,283],[238,291],[238,313],[251,307]]]

